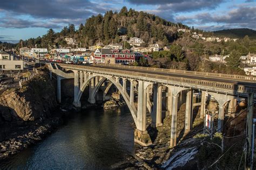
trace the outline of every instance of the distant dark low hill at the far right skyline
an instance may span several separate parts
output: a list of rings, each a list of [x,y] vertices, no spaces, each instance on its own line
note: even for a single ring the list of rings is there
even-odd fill
[[[213,33],[219,37],[244,38],[247,35],[252,39],[256,39],[256,31],[251,29],[228,29],[214,31]]]

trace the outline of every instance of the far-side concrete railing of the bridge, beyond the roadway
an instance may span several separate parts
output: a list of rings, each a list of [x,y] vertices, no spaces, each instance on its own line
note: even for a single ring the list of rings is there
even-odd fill
[[[246,81],[256,82],[256,77],[254,77],[254,76],[245,76],[245,75],[230,75],[230,74],[221,74],[221,73],[204,73],[204,72],[193,72],[193,71],[187,71],[187,70],[152,68],[152,67],[138,67],[138,66],[125,66],[125,65],[117,65],[117,64],[115,65],[115,64],[106,64],[106,63],[101,63],[100,65],[110,66],[110,67],[118,67],[118,68],[132,68],[132,69],[151,70],[151,71],[166,72],[166,73],[178,73],[178,74],[186,74],[186,75],[218,77],[218,78],[224,78],[224,79],[246,80]]]

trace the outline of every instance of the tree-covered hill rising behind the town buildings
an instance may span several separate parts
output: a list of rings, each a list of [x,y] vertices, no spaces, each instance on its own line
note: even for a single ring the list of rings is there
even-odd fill
[[[127,35],[128,38],[139,37],[145,44],[157,42],[160,45],[170,44],[177,39],[177,29],[189,27],[181,23],[168,22],[158,16],[143,11],[127,10],[124,6],[120,12],[107,11],[105,15],[98,14],[86,19],[85,24],[80,24],[78,29],[75,25],[65,26],[62,31],[55,33],[52,29],[47,34],[38,38],[30,38],[23,41],[23,46],[49,47],[68,46],[65,38],[74,38],[82,47],[95,45],[96,42],[109,44],[120,42],[120,35]]]

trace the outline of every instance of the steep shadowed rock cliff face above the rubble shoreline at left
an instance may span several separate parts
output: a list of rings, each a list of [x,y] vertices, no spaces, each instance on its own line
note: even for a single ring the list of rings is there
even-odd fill
[[[35,125],[51,117],[57,105],[55,88],[46,72],[39,71],[20,89],[0,95],[0,140],[21,127]]]

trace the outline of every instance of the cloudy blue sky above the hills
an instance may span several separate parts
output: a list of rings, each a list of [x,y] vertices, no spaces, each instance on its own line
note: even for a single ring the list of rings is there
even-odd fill
[[[256,30],[256,0],[3,0],[0,3],[0,41],[36,38],[50,28],[69,24],[123,6],[153,13],[206,31],[232,28]]]

